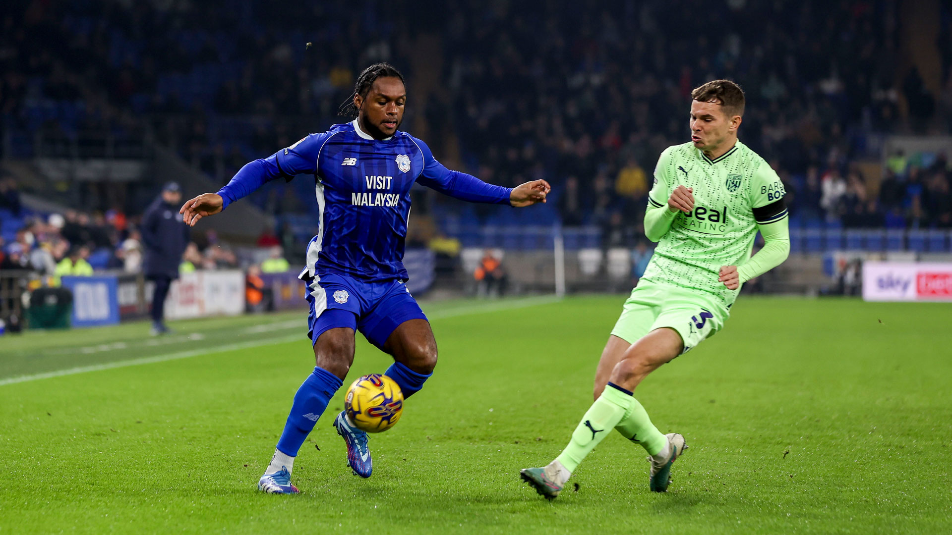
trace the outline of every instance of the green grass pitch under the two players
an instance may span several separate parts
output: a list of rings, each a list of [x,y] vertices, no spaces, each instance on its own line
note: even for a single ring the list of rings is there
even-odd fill
[[[621,302],[426,307],[440,365],[372,437],[373,477],[350,474],[325,416],[295,463],[299,496],[254,485],[313,366],[300,313],[183,322],[165,346],[144,324],[0,338],[0,384],[191,355],[0,386],[0,533],[952,531],[940,304],[742,298],[724,332],[636,391],[691,446],[670,491],[649,493],[644,450],[613,435],[578,491],[545,502],[518,471],[558,454],[589,406]],[[383,371],[358,338],[351,376]],[[255,340],[271,343],[215,352]]]

